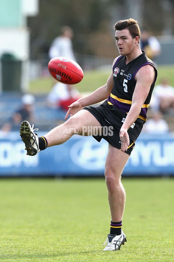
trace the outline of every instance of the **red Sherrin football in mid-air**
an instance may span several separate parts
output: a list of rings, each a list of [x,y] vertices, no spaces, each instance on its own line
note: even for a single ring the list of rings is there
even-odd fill
[[[67,57],[55,57],[48,63],[50,74],[64,84],[77,84],[84,76],[81,67],[72,59]]]

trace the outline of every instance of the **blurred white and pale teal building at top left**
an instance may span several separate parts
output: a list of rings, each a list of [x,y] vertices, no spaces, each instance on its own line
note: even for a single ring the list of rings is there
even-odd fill
[[[37,15],[39,10],[39,0],[0,0],[0,57],[10,54],[15,57],[15,61],[21,61],[20,89],[28,88],[29,74],[29,50],[30,31],[27,28],[27,17]],[[8,56],[9,57],[9,56]],[[3,61],[9,61],[8,58]],[[8,65],[8,62],[6,63]],[[1,63],[2,68],[2,63]],[[1,70],[0,68],[0,70]],[[10,71],[15,70],[10,67]],[[0,73],[0,91],[3,89],[2,70]]]

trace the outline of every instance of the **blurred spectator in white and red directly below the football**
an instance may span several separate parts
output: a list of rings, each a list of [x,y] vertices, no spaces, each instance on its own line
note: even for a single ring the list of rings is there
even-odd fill
[[[79,91],[73,85],[57,82],[47,96],[46,103],[51,108],[68,110],[68,105],[80,98]]]

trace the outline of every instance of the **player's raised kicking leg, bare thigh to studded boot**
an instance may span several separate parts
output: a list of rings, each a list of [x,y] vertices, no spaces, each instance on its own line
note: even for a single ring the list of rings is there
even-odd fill
[[[20,136],[25,143],[27,155],[36,155],[39,151],[46,147],[60,145],[66,142],[73,134],[92,135],[91,132],[86,132],[84,127],[98,127],[101,130],[101,125],[97,119],[87,110],[81,110],[70,117],[65,123],[53,128],[43,137],[38,137],[28,121],[23,121],[20,128]],[[90,130],[93,130],[92,128]]]

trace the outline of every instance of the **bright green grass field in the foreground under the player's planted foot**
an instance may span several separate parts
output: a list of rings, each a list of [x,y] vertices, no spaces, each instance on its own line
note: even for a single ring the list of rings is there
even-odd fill
[[[173,261],[172,178],[123,178],[127,242],[103,252],[104,178],[1,179],[0,261]]]

